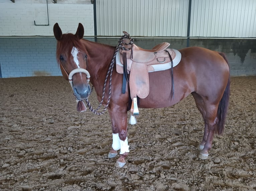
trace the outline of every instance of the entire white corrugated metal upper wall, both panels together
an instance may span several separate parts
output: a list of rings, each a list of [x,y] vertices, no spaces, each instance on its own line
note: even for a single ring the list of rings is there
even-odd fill
[[[97,35],[186,37],[189,0],[97,0]],[[256,37],[256,0],[192,0],[190,37]]]

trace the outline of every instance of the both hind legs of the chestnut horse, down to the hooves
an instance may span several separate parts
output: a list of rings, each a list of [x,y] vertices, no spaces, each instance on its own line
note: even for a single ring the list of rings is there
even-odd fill
[[[202,150],[199,157],[201,159],[207,159],[208,151],[212,147],[213,136],[215,133],[216,125],[218,123],[218,104],[210,104],[208,100],[195,92],[192,93],[192,95],[196,101],[197,108],[201,112],[205,122],[203,140],[199,145],[200,150]]]

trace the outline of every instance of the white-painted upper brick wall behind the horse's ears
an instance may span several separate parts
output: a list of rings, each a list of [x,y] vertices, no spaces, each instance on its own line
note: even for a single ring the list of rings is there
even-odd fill
[[[53,36],[53,25],[59,23],[63,33],[75,33],[78,23],[85,26],[85,36],[94,35],[93,5],[90,1],[0,0],[0,36]]]

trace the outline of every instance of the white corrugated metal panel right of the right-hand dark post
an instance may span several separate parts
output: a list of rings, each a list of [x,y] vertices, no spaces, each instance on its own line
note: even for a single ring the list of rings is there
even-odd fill
[[[256,37],[256,0],[192,0],[190,36]]]

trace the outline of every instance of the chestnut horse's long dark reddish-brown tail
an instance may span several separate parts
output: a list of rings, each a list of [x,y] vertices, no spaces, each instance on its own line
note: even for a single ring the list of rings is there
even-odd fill
[[[229,65],[225,54],[221,53],[221,52],[219,52],[219,54],[224,58],[226,63]],[[216,133],[219,134],[219,135],[222,135],[223,131],[224,131],[224,124],[225,124],[225,120],[226,120],[226,116],[227,116],[227,112],[228,112],[228,106],[229,106],[229,95],[230,95],[230,76],[229,76],[229,79],[228,79],[226,89],[225,89],[224,94],[221,98],[221,101],[219,102],[219,107],[218,107],[219,122],[217,124]]]

